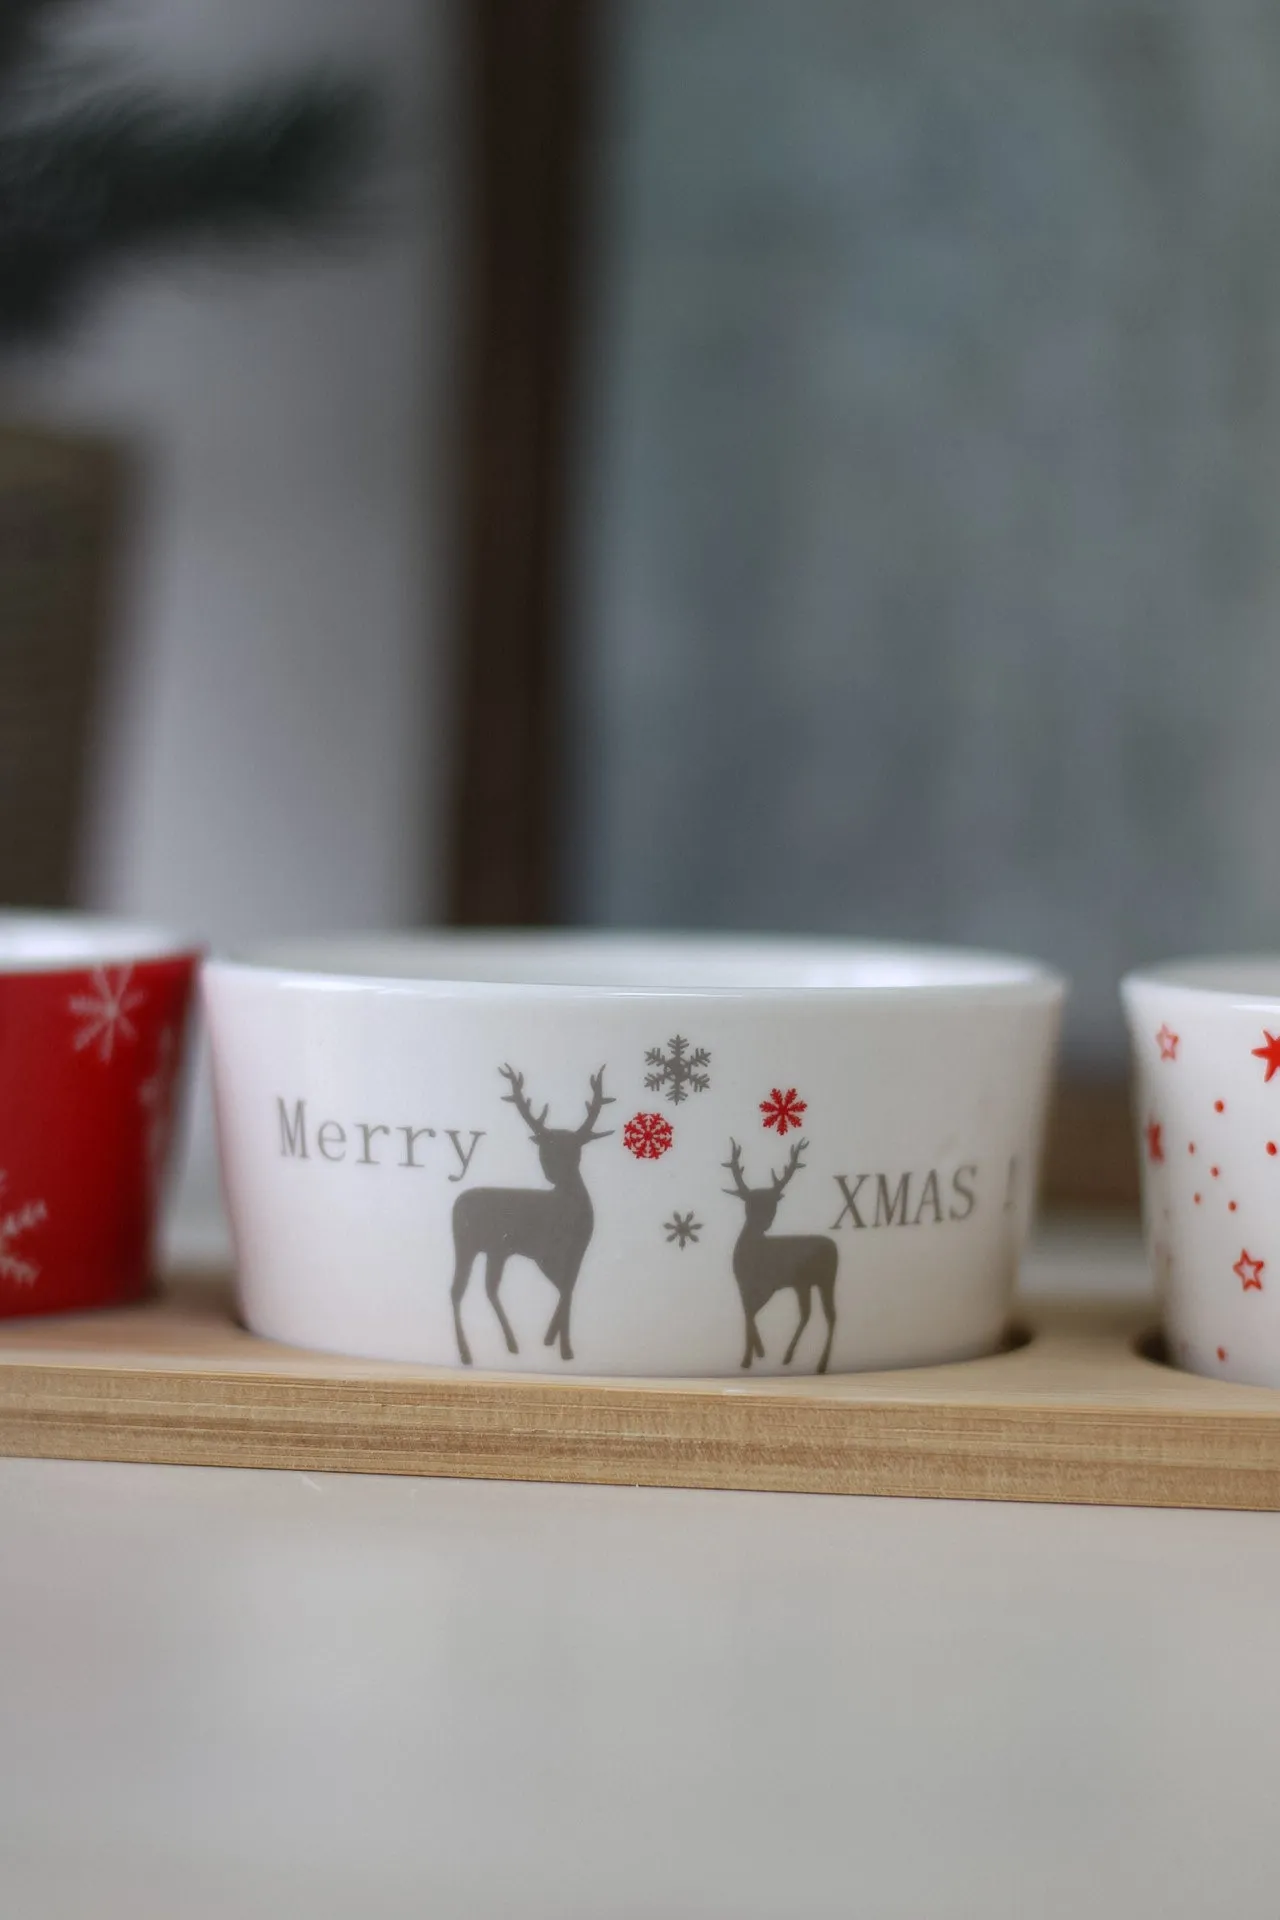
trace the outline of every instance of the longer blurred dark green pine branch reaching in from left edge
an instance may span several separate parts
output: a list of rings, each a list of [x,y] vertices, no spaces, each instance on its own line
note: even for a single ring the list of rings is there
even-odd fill
[[[115,257],[332,228],[372,146],[370,96],[328,81],[211,109],[119,94],[0,131],[0,344],[63,324]]]

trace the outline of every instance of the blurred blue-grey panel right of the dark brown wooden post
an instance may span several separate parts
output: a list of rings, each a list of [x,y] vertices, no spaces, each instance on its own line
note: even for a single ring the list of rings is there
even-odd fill
[[[628,0],[572,906],[1280,943],[1274,0]]]

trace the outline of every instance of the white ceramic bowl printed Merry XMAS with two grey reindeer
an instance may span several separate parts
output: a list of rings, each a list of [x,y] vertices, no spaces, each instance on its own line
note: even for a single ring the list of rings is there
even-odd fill
[[[614,1375],[965,1359],[1006,1331],[1063,983],[624,935],[205,970],[246,1323]]]

